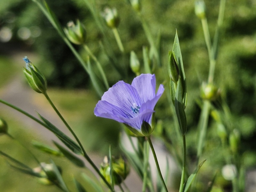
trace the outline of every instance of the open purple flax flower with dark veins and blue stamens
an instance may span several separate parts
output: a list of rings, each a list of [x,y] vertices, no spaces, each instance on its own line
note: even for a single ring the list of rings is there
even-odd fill
[[[135,77],[131,85],[118,81],[103,94],[94,114],[127,124],[141,133],[143,121],[151,125],[156,102],[163,92],[160,84],[156,93],[156,77],[151,74]]]

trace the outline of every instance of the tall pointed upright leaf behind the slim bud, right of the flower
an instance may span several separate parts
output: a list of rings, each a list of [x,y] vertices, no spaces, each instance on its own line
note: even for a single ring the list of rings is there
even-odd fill
[[[186,105],[187,105],[187,83],[186,83],[186,77],[185,77],[185,72],[184,72],[184,68],[183,68],[183,61],[182,61],[182,56],[181,56],[181,51],[180,51],[180,43],[179,43],[177,30],[176,30],[176,35],[174,38],[172,53],[173,53],[175,62],[177,63],[178,68],[179,68],[179,75],[180,75],[181,87],[182,87],[182,102],[183,102],[184,109],[185,109]]]

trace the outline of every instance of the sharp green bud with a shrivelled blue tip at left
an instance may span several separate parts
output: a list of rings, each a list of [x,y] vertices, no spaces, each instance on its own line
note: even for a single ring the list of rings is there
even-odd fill
[[[23,68],[23,73],[28,80],[28,84],[34,91],[45,93],[47,89],[47,81],[44,75],[28,60],[28,57],[23,58],[23,60],[27,65],[26,68]]]

